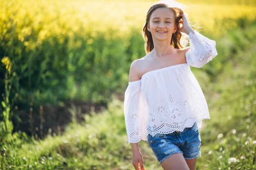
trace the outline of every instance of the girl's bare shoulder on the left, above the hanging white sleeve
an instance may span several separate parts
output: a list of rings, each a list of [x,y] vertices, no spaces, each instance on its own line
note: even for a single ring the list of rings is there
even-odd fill
[[[145,57],[132,62],[130,66],[129,82],[134,82],[141,79],[141,68],[143,68],[144,63]]]

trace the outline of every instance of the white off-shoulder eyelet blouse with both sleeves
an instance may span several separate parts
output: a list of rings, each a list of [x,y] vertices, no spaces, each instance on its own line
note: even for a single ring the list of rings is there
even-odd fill
[[[190,66],[202,67],[217,55],[216,42],[197,31],[189,33],[186,62],[149,71],[129,82],[124,114],[129,143],[147,140],[148,134],[183,131],[195,122],[209,119],[204,94]]]

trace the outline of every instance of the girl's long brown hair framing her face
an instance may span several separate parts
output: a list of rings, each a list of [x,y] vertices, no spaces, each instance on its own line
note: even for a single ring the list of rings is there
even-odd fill
[[[149,24],[151,14],[156,9],[159,9],[159,8],[168,8],[168,9],[171,9],[174,12],[174,14],[175,14],[175,27],[176,27],[177,31],[175,31],[175,33],[173,33],[173,35],[172,35],[171,46],[175,49],[182,49],[183,47],[180,44],[180,38],[182,36],[182,34],[180,32],[180,19],[182,18],[183,11],[180,8],[177,8],[177,7],[169,7],[167,4],[164,4],[164,3],[157,3],[157,4],[153,4],[148,9],[145,24],[144,24],[144,27],[143,27],[143,30],[142,30],[142,35],[144,36],[144,40],[145,40],[145,51],[146,51],[146,53],[149,53],[150,51],[152,51],[154,49],[152,35],[148,31],[148,24]]]

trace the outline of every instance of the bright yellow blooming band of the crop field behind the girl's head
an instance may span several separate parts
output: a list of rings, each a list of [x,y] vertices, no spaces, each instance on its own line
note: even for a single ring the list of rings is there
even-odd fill
[[[156,1],[153,0],[1,0],[1,22],[17,22],[20,39],[31,34],[31,27],[39,31],[39,42],[52,34],[72,36],[98,32],[124,36],[130,29],[140,30],[146,11]],[[168,0],[167,0],[168,2]],[[184,11],[192,21],[207,32],[221,35],[225,30],[238,26],[238,18],[255,21],[256,2],[254,0],[181,0]],[[222,21],[224,20],[224,21]],[[31,27],[30,27],[31,26]],[[7,25],[8,27],[8,25]],[[2,30],[3,33],[6,31]]]

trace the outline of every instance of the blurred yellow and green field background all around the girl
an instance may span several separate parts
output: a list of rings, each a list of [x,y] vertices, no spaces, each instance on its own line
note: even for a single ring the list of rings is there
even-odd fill
[[[153,0],[0,0],[0,170],[132,170],[123,100]],[[218,56],[197,170],[256,169],[256,0],[180,0]],[[146,141],[146,170],[160,170]]]

